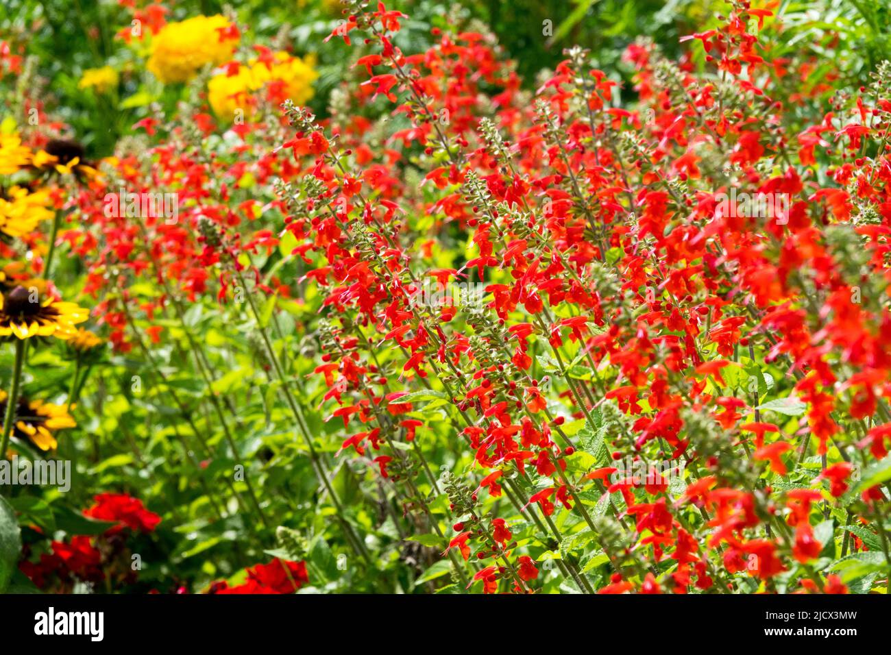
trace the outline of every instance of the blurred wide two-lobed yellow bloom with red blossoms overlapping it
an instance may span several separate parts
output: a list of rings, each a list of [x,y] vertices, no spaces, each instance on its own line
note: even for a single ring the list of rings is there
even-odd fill
[[[299,105],[313,97],[313,82],[319,74],[311,58],[300,59],[285,52],[274,53],[273,58],[268,65],[252,59],[233,76],[220,73],[210,79],[208,102],[217,116],[232,120],[237,109],[251,114],[255,104],[251,94],[270,85],[276,85],[273,93],[278,96],[278,102],[290,98]]]

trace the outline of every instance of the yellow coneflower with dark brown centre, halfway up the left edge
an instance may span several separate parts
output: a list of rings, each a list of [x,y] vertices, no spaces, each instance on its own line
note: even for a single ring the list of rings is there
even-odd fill
[[[0,296],[0,337],[55,337],[69,340],[75,324],[89,318],[89,311],[73,302],[62,302],[41,293],[37,286],[19,285]]]

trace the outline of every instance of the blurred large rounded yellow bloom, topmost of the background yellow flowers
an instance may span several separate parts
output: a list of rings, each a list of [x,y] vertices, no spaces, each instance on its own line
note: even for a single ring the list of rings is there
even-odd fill
[[[220,15],[168,23],[151,39],[148,69],[169,84],[192,79],[208,63],[219,66],[229,61],[235,41],[225,38],[223,30],[230,27],[229,21]]]

